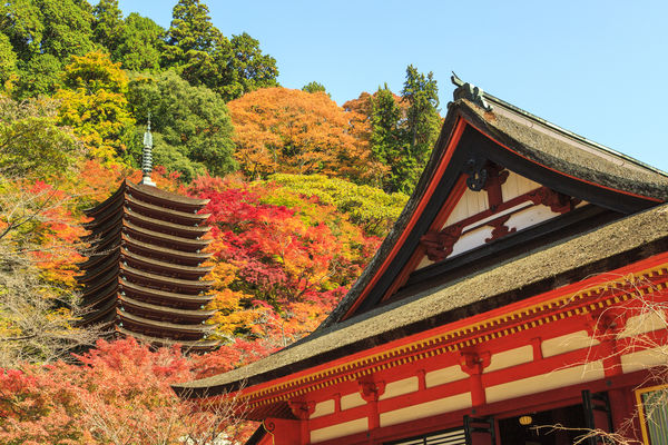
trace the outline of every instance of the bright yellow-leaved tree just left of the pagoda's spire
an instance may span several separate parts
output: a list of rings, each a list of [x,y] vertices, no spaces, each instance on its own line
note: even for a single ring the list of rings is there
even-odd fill
[[[127,162],[135,119],[126,99],[128,79],[109,56],[75,56],[66,67],[60,100],[60,121],[71,126],[90,155],[106,162]]]

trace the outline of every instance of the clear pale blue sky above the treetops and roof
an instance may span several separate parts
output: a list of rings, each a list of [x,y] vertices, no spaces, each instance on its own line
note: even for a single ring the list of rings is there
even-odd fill
[[[176,0],[120,0],[169,27]],[[406,66],[433,71],[442,115],[451,71],[588,139],[668,170],[668,1],[204,0],[227,37],[248,32],[287,88],[338,105]]]

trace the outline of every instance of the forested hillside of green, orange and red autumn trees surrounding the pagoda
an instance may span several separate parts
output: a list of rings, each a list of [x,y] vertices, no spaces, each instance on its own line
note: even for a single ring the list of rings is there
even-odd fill
[[[442,120],[431,73],[409,66],[402,91],[340,106],[316,80],[282,87],[259,41],[223,31],[199,0],[179,0],[168,29],[117,0],[0,4],[0,444],[247,434],[169,384],[307,335],[403,209]],[[220,346],[206,354],[77,323],[84,210],[140,179],[149,120],[157,186],[209,199]]]

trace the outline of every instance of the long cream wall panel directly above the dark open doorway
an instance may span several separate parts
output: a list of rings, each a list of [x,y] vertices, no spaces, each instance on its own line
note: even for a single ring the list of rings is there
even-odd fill
[[[598,380],[603,377],[602,362],[592,362],[572,368],[558,369],[534,377],[490,386],[485,389],[485,396],[488,403],[494,403],[562,388],[578,383]]]

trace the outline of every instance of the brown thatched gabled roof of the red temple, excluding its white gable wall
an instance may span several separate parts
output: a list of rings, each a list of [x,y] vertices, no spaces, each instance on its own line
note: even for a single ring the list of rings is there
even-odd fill
[[[286,377],[667,250],[666,174],[460,83],[413,196],[330,317],[265,359],[175,386],[179,394],[216,395]],[[468,166],[484,162],[587,201],[607,219],[586,215],[593,222],[579,231],[563,230],[522,255],[499,257],[449,283],[357,310],[370,295],[377,298],[392,286],[453,190],[465,182]]]

